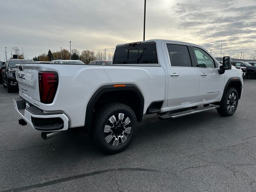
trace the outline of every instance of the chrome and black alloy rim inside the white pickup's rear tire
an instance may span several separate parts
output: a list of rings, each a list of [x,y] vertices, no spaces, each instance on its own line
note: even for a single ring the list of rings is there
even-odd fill
[[[111,116],[104,127],[106,142],[112,146],[118,146],[126,142],[132,129],[130,122],[130,118],[123,113]]]

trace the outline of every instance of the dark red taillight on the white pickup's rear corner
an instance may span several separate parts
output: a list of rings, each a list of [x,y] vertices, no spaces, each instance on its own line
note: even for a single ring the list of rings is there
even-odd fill
[[[40,101],[52,103],[58,88],[58,74],[56,72],[40,71],[38,73]]]

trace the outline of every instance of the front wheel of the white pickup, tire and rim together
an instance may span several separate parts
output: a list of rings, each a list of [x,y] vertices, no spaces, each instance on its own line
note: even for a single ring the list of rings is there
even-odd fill
[[[231,98],[230,98],[231,96]],[[223,99],[220,101],[220,108],[217,112],[222,116],[231,116],[236,112],[238,106],[238,93],[235,88],[228,88]]]

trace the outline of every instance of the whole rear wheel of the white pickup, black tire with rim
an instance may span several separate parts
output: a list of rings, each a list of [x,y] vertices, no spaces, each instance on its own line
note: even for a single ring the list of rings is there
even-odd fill
[[[123,114],[120,116],[122,118],[121,122],[119,120],[120,114]],[[115,116],[115,120],[110,121],[113,116]],[[126,124],[127,122],[129,123]],[[136,115],[129,106],[121,103],[106,104],[96,114],[90,138],[105,153],[115,154],[121,152],[132,142],[137,129],[136,122]],[[108,127],[106,128],[106,126]],[[128,134],[128,132],[130,133]],[[117,145],[114,146],[115,144]]]

